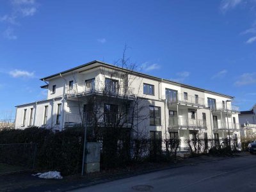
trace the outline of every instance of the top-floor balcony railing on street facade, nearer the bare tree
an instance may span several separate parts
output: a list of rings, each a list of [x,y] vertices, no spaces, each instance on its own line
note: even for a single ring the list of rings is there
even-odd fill
[[[164,99],[171,104],[188,104],[189,106],[205,107],[204,98],[195,97],[193,95],[184,95],[183,93],[178,93],[177,95],[164,95]]]

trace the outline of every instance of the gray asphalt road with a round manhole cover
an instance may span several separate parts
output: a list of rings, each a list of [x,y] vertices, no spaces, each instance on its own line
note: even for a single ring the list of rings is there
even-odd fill
[[[256,155],[191,164],[74,191],[255,191]]]

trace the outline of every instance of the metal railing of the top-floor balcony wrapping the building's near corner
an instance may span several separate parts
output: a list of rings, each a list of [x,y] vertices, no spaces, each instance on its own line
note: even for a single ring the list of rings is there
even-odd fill
[[[71,87],[65,87],[65,95],[67,95],[67,98],[92,94],[124,97],[127,99],[134,99],[135,97],[134,88],[127,88],[127,86],[120,86],[118,84],[108,84],[102,81],[92,81],[89,86],[86,86],[86,83],[75,83]]]

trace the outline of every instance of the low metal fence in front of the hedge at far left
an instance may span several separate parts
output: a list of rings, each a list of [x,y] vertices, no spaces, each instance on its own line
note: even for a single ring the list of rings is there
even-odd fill
[[[0,175],[33,170],[35,156],[35,143],[0,144]]]

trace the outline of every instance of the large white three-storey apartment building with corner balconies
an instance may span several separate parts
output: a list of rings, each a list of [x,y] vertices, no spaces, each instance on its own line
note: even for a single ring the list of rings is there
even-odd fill
[[[45,82],[41,88],[47,89],[47,99],[17,106],[15,128],[35,125],[61,131],[80,124],[81,111],[90,112],[88,97],[93,95],[99,98],[100,110],[106,114],[102,122],[115,120],[115,114],[124,108],[120,102],[125,100],[129,108],[139,99],[138,105],[143,106],[140,114],[147,118],[132,118],[136,132],[144,131],[154,138],[180,138],[181,147],[186,147],[185,140],[197,132],[205,138],[221,139],[228,137],[229,130],[231,138],[240,138],[239,109],[232,105],[234,97],[229,95],[102,61],[92,61],[41,80]],[[110,94],[104,95],[106,92]],[[126,111],[129,118],[131,111]]]

